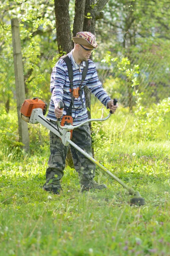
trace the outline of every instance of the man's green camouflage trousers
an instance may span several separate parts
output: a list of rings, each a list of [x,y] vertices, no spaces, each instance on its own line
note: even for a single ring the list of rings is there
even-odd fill
[[[91,136],[88,123],[73,130],[71,140],[90,156],[92,156]],[[63,171],[65,169],[65,158],[67,156],[68,147],[69,145],[63,145],[61,139],[50,131],[51,154],[48,160],[48,168],[46,170],[46,183],[44,184],[43,188],[61,188],[60,180],[64,174]],[[87,184],[91,182],[95,176],[96,166],[73,146],[70,145],[70,149],[74,167],[79,175],[79,183],[81,186],[87,186]]]

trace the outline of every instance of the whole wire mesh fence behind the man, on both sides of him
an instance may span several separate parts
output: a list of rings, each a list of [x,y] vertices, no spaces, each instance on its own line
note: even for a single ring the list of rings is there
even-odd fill
[[[49,84],[51,67],[54,66],[54,64],[51,64],[53,56],[48,53],[48,55],[42,54],[39,57],[40,62],[37,65],[39,65],[41,76],[39,77],[40,74],[31,72],[31,79],[29,76],[26,77],[27,96],[33,95],[31,88],[34,93],[36,91],[35,88],[28,86],[29,83],[40,84],[42,93],[44,92],[45,94],[45,100],[48,101],[50,99]],[[121,57],[120,55],[118,56],[118,58]],[[129,59],[131,67],[139,65],[139,74],[136,73],[139,85],[136,88],[131,86],[132,83],[128,81],[125,73],[119,70],[119,66],[116,63],[109,66],[102,62],[95,62],[99,79],[111,97],[118,98],[119,103],[124,107],[132,108],[136,104],[134,90],[144,93],[144,104],[157,103],[161,99],[170,96],[170,60],[168,55],[138,54],[130,55]],[[28,74],[28,70],[25,73]],[[12,105],[11,101],[13,102]],[[7,113],[9,110],[13,111],[17,106],[12,54],[0,55],[0,104],[5,107]]]

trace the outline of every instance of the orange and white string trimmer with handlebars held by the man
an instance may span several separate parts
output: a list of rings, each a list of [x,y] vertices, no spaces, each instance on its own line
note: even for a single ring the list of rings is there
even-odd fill
[[[114,105],[116,105],[117,99],[113,100]],[[59,102],[59,108],[64,108],[63,102]],[[42,100],[38,98],[34,99],[26,99],[21,107],[20,110],[20,116],[21,118],[30,123],[30,124],[37,124],[40,123],[44,125],[47,129],[52,131],[54,134],[56,134],[59,138],[61,138],[62,143],[67,145],[72,145],[74,148],[76,148],[79,152],[81,152],[85,157],[87,157],[89,160],[91,160],[93,163],[96,164],[96,166],[99,166],[103,171],[105,171],[109,176],[111,176],[114,180],[116,180],[120,185],[122,185],[130,195],[134,195],[133,198],[130,199],[130,204],[138,204],[138,205],[144,205],[145,201],[144,198],[141,197],[140,193],[138,191],[135,191],[133,188],[127,186],[122,180],[120,180],[118,177],[113,175],[108,169],[106,169],[104,166],[102,166],[98,161],[96,161],[93,157],[91,157],[89,154],[87,154],[84,150],[79,148],[75,143],[71,141],[72,137],[72,130],[80,127],[81,125],[92,122],[92,121],[105,121],[107,120],[112,112],[108,114],[107,117],[103,119],[88,119],[79,125],[72,125],[72,121],[69,120],[69,116],[64,116],[64,119],[57,119],[57,125],[54,125],[52,122],[50,122],[44,115],[47,110],[47,104],[43,102]]]

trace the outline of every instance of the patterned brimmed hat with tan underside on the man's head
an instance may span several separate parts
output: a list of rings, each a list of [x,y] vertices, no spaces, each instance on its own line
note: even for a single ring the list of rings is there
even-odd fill
[[[87,47],[96,49],[98,44],[96,43],[96,37],[91,32],[78,32],[75,37],[72,38],[75,44],[82,44]]]

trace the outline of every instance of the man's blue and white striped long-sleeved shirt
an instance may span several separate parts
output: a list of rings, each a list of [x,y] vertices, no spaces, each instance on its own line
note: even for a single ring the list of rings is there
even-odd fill
[[[82,80],[82,70],[85,66],[85,61],[83,61],[80,65],[76,64],[74,61],[73,50],[68,54],[69,58],[71,59],[72,66],[73,66],[73,84],[74,88],[79,87],[79,84]],[[88,66],[88,73],[86,75],[85,81],[83,82],[82,88],[86,85],[103,105],[108,108],[108,102],[111,98],[105,92],[102,87],[101,82],[97,76],[96,67],[93,61],[90,59],[89,66]],[[51,82],[50,82],[50,89],[51,89],[51,100],[48,109],[47,118],[56,121],[57,118],[54,113],[55,107],[58,106],[58,102],[64,102],[65,106],[68,108],[71,103],[71,93],[70,93],[70,81],[68,77],[68,70],[67,65],[63,59],[59,59],[57,61],[55,67],[53,68],[51,74]],[[82,90],[82,101],[85,106],[85,93]],[[82,121],[88,119],[88,113],[86,108],[82,108],[82,101],[79,98],[74,99],[74,108],[72,107],[72,117],[74,125],[79,124]],[[63,111],[63,116],[66,115],[66,112]]]

